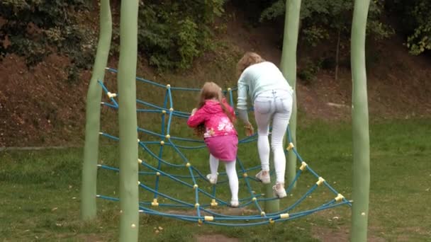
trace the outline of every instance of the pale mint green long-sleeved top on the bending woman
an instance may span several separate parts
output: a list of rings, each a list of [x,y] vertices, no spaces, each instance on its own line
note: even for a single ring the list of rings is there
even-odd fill
[[[247,94],[254,103],[254,98],[269,90],[291,91],[292,88],[272,62],[261,62],[247,67],[238,79],[238,111],[247,110]],[[241,119],[246,121],[245,118]]]

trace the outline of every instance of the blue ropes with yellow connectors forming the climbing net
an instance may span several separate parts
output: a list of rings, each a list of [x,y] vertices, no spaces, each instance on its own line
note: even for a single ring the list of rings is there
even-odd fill
[[[111,71],[113,73],[118,72],[116,69],[111,69],[111,68],[107,68],[107,70]],[[236,216],[236,215],[220,214],[220,213],[214,212],[211,209],[206,209],[206,207],[208,207],[208,208],[211,207],[211,204],[199,204],[199,200],[201,200],[200,199],[201,197],[199,196],[200,194],[205,196],[205,197],[211,198],[212,200],[215,200],[221,206],[228,206],[229,202],[220,200],[220,198],[217,197],[217,189],[216,189],[217,185],[211,186],[211,192],[206,192],[206,190],[203,190],[203,189],[199,188],[198,186],[197,187],[195,186],[195,185],[198,185],[197,180],[203,180],[205,183],[208,183],[208,180],[206,179],[206,176],[203,175],[203,173],[201,173],[201,171],[199,171],[196,167],[192,166],[189,163],[189,160],[180,151],[180,149],[189,149],[189,150],[203,149],[206,147],[206,145],[203,144],[204,142],[201,139],[171,137],[170,135],[167,136],[168,134],[170,134],[170,129],[171,129],[173,117],[188,118],[190,115],[190,113],[188,113],[188,112],[177,111],[177,110],[173,109],[174,105],[173,105],[172,91],[194,91],[194,92],[196,92],[196,91],[201,91],[201,89],[200,88],[174,87],[174,86],[169,86],[169,85],[164,86],[162,84],[156,83],[154,81],[142,79],[140,77],[136,77],[136,80],[141,81],[143,83],[148,83],[148,84],[153,85],[153,86],[165,88],[165,90],[166,90],[165,96],[164,96],[164,103],[163,103],[162,107],[155,105],[155,104],[152,104],[152,103],[145,102],[144,100],[136,100],[136,103],[150,107],[148,109],[138,108],[137,112],[139,112],[139,113],[162,113],[162,115],[161,115],[162,116],[162,125],[161,125],[161,132],[160,133],[153,132],[153,131],[150,131],[148,129],[143,129],[140,127],[137,128],[139,132],[143,132],[145,134],[150,134],[154,137],[158,137],[159,139],[161,139],[159,141],[138,142],[139,146],[141,146],[142,149],[147,152],[147,154],[150,154],[150,157],[156,159],[156,161],[157,161],[157,166],[152,166],[152,165],[150,165],[150,163],[142,161],[142,163],[141,163],[142,166],[149,169],[150,171],[139,171],[139,174],[145,175],[145,177],[147,177],[148,175],[155,175],[155,187],[150,188],[150,186],[145,185],[144,183],[140,183],[139,187],[143,188],[143,189],[147,190],[148,192],[150,192],[151,194],[153,194],[155,199],[157,199],[157,197],[160,196],[160,197],[164,197],[167,200],[174,202],[174,203],[159,203],[159,207],[195,208],[196,209],[196,216],[184,215],[184,214],[169,214],[169,213],[164,213],[164,212],[160,212],[157,210],[153,210],[153,209],[149,208],[149,206],[152,205],[152,202],[140,202],[140,210],[142,210],[141,212],[144,212],[147,214],[159,215],[159,216],[163,216],[163,217],[171,217],[174,219],[181,219],[183,221],[194,221],[194,222],[202,221],[205,224],[213,224],[213,225],[219,225],[219,226],[255,226],[255,225],[261,225],[261,224],[269,224],[269,222],[270,222],[269,219],[271,219],[274,222],[287,221],[287,220],[292,220],[292,219],[296,219],[299,217],[303,217],[303,216],[306,216],[308,214],[312,214],[314,212],[321,211],[323,209],[330,209],[332,207],[338,207],[338,206],[341,206],[344,204],[347,204],[348,206],[352,206],[352,202],[349,202],[344,197],[342,198],[341,202],[337,202],[334,198],[334,199],[332,199],[328,202],[325,202],[324,204],[322,204],[319,207],[316,207],[314,209],[309,209],[309,210],[302,211],[302,212],[292,213],[292,214],[289,214],[289,218],[281,219],[280,214],[282,214],[284,212],[289,212],[292,209],[294,209],[295,207],[297,207],[298,204],[301,204],[301,202],[303,202],[303,200],[306,200],[306,198],[316,188],[318,188],[318,185],[314,184],[304,195],[302,195],[298,200],[296,200],[296,202],[293,202],[293,204],[291,204],[291,206],[286,207],[285,209],[281,209],[281,211],[279,211],[279,212],[274,212],[271,214],[264,214],[264,216],[262,217],[260,215],[260,213],[263,211],[262,211],[262,207],[260,206],[259,202],[267,202],[267,201],[276,200],[279,198],[277,198],[277,197],[265,198],[265,197],[262,197],[262,194],[255,194],[254,191],[252,190],[252,185],[250,184],[250,180],[253,182],[259,182],[259,180],[257,180],[256,178],[254,178],[250,175],[244,175],[244,174],[249,172],[249,171],[258,170],[260,168],[260,166],[254,166],[252,168],[245,168],[242,161],[237,158],[238,166],[240,166],[240,170],[238,171],[238,174],[242,174],[242,175],[239,175],[239,178],[243,179],[245,181],[247,192],[250,194],[247,197],[241,197],[239,199],[241,202],[240,207],[247,207],[247,206],[250,206],[251,204],[253,204],[254,207],[256,207],[259,214]],[[106,88],[106,86],[101,81],[98,81],[98,82],[99,82],[99,85],[101,86],[101,88],[103,89],[103,92],[108,93],[109,92],[108,88]],[[223,91],[223,93],[225,93],[225,95],[228,95],[229,103],[232,106],[234,105],[233,91],[236,91],[236,90],[237,90],[237,88],[235,87],[235,88],[228,88],[227,91]],[[118,109],[118,103],[116,102],[115,98],[111,97],[109,99],[111,100],[112,104],[111,103],[101,103],[101,104],[106,105],[109,108]],[[167,108],[168,105],[170,108]],[[252,111],[252,110],[253,110],[253,108],[250,108],[250,111]],[[115,137],[111,134],[106,134],[103,132],[101,132],[100,134],[101,134],[101,136],[107,137],[108,139],[113,139],[115,141],[119,140],[118,137]],[[287,138],[288,138],[289,142],[292,142],[291,141],[292,140],[291,139],[291,132],[290,132],[289,127],[287,128],[287,134],[288,134]],[[257,140],[257,134],[254,134],[251,137],[245,137],[244,139],[240,139],[239,144],[247,144],[250,142],[254,142],[256,140]],[[194,143],[203,144],[203,145],[185,146],[185,145],[175,144],[174,141],[194,142]],[[164,142],[164,144],[162,142]],[[156,155],[154,152],[152,152],[147,147],[147,145],[159,145],[158,155]],[[172,147],[172,149],[174,149],[174,151],[177,154],[179,154],[179,156],[181,158],[181,164],[174,164],[174,163],[171,163],[169,161],[162,159],[164,146]],[[296,151],[296,149],[294,147],[293,147],[293,149],[291,149],[291,151],[298,158],[298,162],[302,163],[303,159],[298,154],[298,151]],[[287,152],[287,151],[285,151],[285,152]],[[164,166],[170,166],[173,168],[187,168],[189,175],[179,175],[179,174],[166,173],[166,172],[162,171],[163,165]],[[103,169],[106,169],[108,171],[115,171],[115,172],[119,171],[118,168],[111,167],[111,166],[106,166],[106,165],[98,165],[98,166],[99,166],[99,168],[103,168]],[[312,168],[310,168],[310,166],[306,166],[306,169],[304,171],[308,171],[311,175],[315,176],[315,178],[320,177],[318,175],[318,173],[316,173],[315,171],[313,171]],[[296,176],[293,179],[292,183],[286,189],[286,192],[288,194],[291,192],[291,190],[294,187],[294,184],[298,181],[298,178],[302,173],[303,173],[303,171],[301,171],[301,170],[297,171]],[[159,192],[159,184],[160,184],[159,177],[160,176],[167,177],[170,180],[179,183],[180,185],[184,185],[190,189],[194,189],[194,202],[195,202],[195,204],[199,204],[199,205],[195,206],[195,204],[191,204],[190,202],[184,202],[183,200],[180,200],[178,198],[171,197],[167,194]],[[226,176],[226,173],[220,172],[219,177],[221,177],[221,176]],[[191,180],[192,184],[187,183],[183,179],[188,179],[189,181]],[[222,183],[227,183],[227,182],[228,182],[227,179],[219,180],[218,185],[220,185]],[[332,186],[329,183],[327,183],[325,180],[323,181],[323,184],[325,185],[326,188],[328,188],[335,195],[338,194],[337,190],[332,188]],[[103,195],[98,195],[98,197],[100,197],[102,199],[106,199],[106,200],[118,201],[118,198],[115,198],[115,197],[108,197],[108,196],[103,196]],[[206,214],[213,215],[214,216],[213,221],[205,221],[204,217],[201,216],[201,212],[205,212]],[[231,223],[232,221],[247,221],[247,222],[246,223],[236,223],[236,222]]]

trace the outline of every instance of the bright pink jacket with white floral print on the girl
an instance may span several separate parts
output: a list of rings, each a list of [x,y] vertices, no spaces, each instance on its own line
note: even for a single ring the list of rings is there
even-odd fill
[[[223,99],[223,104],[228,111],[235,117],[235,113],[232,107]],[[228,115],[223,112],[220,104],[217,100],[205,100],[205,105],[199,108],[194,115],[189,117],[187,120],[187,125],[189,127],[198,127],[203,123],[206,128],[204,138],[215,137],[219,135],[235,134],[237,131],[233,127],[233,123],[230,122]]]

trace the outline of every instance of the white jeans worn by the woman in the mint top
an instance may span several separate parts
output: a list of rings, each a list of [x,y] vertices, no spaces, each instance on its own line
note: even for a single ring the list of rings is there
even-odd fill
[[[274,154],[276,183],[284,183],[286,156],[283,139],[292,113],[292,91],[270,90],[254,99],[254,118],[257,124],[257,150],[262,171],[269,171],[269,125],[272,120],[271,148]]]

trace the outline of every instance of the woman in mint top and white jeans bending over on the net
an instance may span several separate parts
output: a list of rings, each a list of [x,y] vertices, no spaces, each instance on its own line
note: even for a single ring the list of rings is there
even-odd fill
[[[272,122],[271,149],[274,154],[276,185],[274,193],[286,197],[284,173],[283,139],[292,113],[293,89],[275,64],[265,61],[254,52],[245,53],[237,64],[240,74],[238,79],[238,117],[245,123],[247,134],[252,134],[253,127],[247,115],[247,96],[254,105],[254,119],[257,124],[257,151],[262,164],[262,171],[256,178],[262,183],[270,183],[269,178],[269,125]]]

